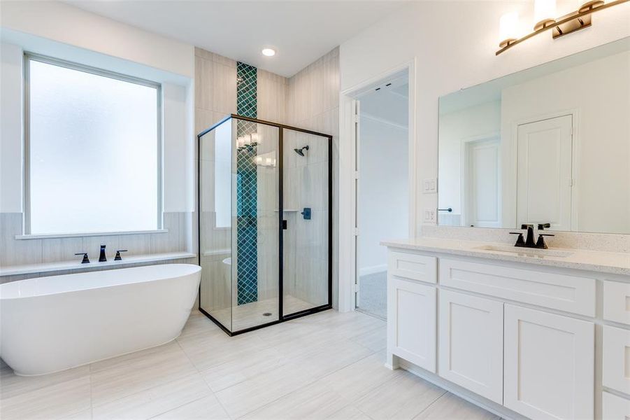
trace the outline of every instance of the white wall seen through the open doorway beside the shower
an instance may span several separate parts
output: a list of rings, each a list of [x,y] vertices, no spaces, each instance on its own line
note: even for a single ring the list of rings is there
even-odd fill
[[[387,269],[387,248],[380,241],[408,235],[409,155],[406,127],[364,116],[360,125],[358,255],[363,276]]]

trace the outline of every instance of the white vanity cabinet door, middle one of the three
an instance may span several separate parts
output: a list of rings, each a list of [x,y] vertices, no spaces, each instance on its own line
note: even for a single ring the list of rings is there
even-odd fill
[[[440,290],[439,374],[503,403],[503,303]]]

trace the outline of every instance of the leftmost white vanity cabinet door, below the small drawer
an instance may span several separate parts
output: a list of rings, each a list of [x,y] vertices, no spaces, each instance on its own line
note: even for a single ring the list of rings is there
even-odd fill
[[[436,288],[389,276],[387,348],[430,372],[436,372]]]

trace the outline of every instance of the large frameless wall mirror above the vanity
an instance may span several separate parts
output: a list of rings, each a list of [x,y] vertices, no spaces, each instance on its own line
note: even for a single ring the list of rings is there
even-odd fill
[[[439,107],[438,224],[630,234],[630,38]]]

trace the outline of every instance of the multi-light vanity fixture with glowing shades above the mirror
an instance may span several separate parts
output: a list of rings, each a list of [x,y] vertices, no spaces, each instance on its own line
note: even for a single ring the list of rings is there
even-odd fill
[[[496,51],[496,55],[549,29],[552,30],[552,36],[555,39],[559,36],[587,28],[591,26],[591,15],[593,13],[617,6],[618,4],[627,3],[628,1],[630,0],[613,0],[605,3],[602,0],[592,0],[582,4],[582,6],[574,12],[553,19],[550,13],[554,13],[555,11],[555,0],[535,0],[534,31],[525,36],[518,38],[515,35],[518,29],[518,15],[516,13],[506,13],[501,16],[499,20],[499,35],[501,39],[499,48],[501,49]]]

